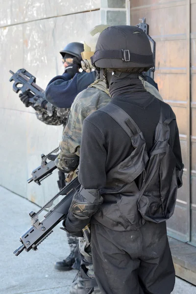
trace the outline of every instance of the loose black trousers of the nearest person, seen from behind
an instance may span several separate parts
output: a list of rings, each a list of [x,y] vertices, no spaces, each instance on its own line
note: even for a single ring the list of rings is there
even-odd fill
[[[101,294],[171,294],[175,270],[165,221],[126,232],[92,224],[91,244]]]

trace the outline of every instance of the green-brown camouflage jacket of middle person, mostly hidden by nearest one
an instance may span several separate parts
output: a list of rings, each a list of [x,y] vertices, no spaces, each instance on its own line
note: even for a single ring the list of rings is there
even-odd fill
[[[147,92],[156,98],[163,100],[158,90],[140,77]],[[79,156],[82,137],[82,124],[84,119],[92,112],[103,107],[110,101],[109,92],[103,80],[97,80],[87,89],[80,92],[73,101],[67,125],[63,131],[63,138],[60,142],[60,154],[56,165],[63,169],[61,162],[66,154],[75,153]]]

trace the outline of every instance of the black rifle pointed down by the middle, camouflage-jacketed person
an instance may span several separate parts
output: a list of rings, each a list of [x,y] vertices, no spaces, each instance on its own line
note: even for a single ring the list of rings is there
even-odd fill
[[[47,155],[41,155],[41,165],[31,172],[32,177],[27,180],[28,183],[34,181],[36,184],[41,185],[40,182],[46,179],[55,169],[57,169],[54,163],[54,159],[57,155],[54,155],[53,153],[57,153],[58,150],[59,148],[56,148]],[[47,159],[50,161],[47,162]]]

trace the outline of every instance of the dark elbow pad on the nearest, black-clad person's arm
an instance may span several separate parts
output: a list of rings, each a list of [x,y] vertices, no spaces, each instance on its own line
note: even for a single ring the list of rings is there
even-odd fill
[[[103,197],[98,189],[84,189],[81,187],[73,196],[70,211],[77,219],[89,219],[98,211],[102,202]]]

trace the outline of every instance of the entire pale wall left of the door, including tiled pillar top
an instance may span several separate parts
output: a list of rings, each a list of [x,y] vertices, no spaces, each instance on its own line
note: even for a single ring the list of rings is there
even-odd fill
[[[126,1],[0,0],[0,185],[43,205],[58,192],[57,172],[41,186],[26,183],[40,154],[58,146],[62,126],[36,119],[12,90],[9,70],[20,68],[46,88],[63,72],[59,50],[80,42],[94,25],[126,24]]]

